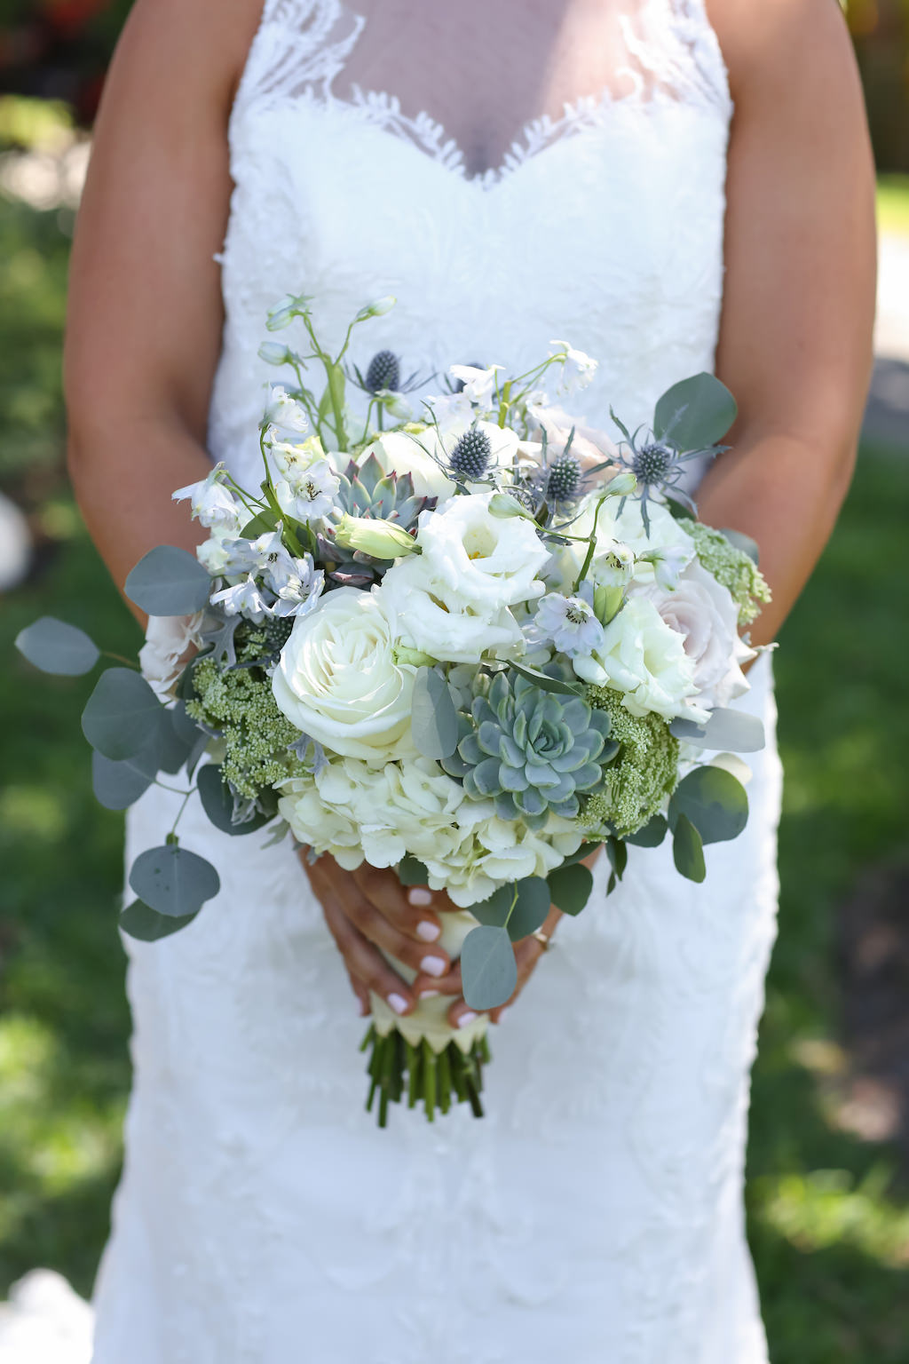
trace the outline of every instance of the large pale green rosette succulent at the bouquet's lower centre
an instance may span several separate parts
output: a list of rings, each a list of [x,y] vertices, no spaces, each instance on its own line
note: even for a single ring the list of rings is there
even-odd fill
[[[602,767],[617,752],[605,711],[515,674],[497,672],[459,719],[462,737],[443,768],[469,795],[492,797],[500,818],[530,828],[549,813],[575,818],[578,795],[602,783]]]

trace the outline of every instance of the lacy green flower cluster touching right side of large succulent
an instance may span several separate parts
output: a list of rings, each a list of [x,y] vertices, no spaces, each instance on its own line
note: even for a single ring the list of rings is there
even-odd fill
[[[602,788],[583,801],[581,822],[594,833],[611,827],[620,837],[657,814],[679,777],[679,741],[658,715],[635,716],[612,687],[590,686],[586,700],[611,719],[619,754],[604,772]]]

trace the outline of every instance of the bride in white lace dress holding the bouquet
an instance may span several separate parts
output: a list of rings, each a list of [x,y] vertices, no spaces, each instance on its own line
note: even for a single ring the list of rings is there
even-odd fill
[[[699,513],[759,542],[769,642],[849,483],[872,201],[834,0],[136,0],[72,259],[84,517],[117,584],[161,542],[192,548],[170,491],[213,458],[255,481],[267,308],[307,293],[334,342],[394,293],[363,370],[379,348],[405,374],[525,368],[566,336],[600,361],[591,426],[609,402],[646,421],[715,367],[740,416]],[[773,735],[769,655],[751,682]],[[172,801],[131,813],[131,853]],[[135,1086],[95,1364],[762,1364],[741,1195],[771,745],[750,801],[703,885],[632,848],[613,896],[598,868],[581,919],[551,914],[552,951],[522,945],[482,1121],[395,1112],[384,1132],[363,1112],[368,989],[398,1012],[446,992],[470,1019],[442,899],[328,858],[308,880],[189,810],[222,892],[127,944]]]

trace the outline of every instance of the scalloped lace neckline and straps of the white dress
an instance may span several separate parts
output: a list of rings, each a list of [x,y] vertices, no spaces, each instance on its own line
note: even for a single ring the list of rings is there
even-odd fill
[[[656,15],[658,8],[668,10],[673,19],[675,44],[665,31],[666,15]],[[346,95],[335,93],[334,82],[367,26],[367,18],[345,0],[264,0],[232,123],[255,98],[342,110],[412,143],[465,184],[492,190],[566,138],[602,128],[619,108],[707,105],[728,121],[732,113],[728,71],[703,0],[643,0],[643,10],[653,16],[649,22],[656,25],[654,31],[661,33],[662,42],[642,38],[630,16],[621,16],[627,53],[638,65],[630,61],[616,68],[611,83],[596,94],[566,101],[557,116],[544,113],[529,119],[499,164],[485,170],[467,173],[465,150],[444,123],[425,110],[402,112],[398,95],[364,90],[358,83],[352,83]],[[673,52],[673,45],[679,50]],[[683,53],[688,55],[687,63],[681,60]],[[630,87],[616,93],[613,86],[623,79],[631,82]]]

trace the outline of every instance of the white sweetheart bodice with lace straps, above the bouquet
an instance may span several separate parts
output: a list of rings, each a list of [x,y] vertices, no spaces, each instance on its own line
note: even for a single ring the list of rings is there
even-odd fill
[[[217,458],[255,476],[262,383],[279,378],[256,352],[288,292],[313,299],[331,344],[364,303],[397,296],[356,333],[361,367],[387,346],[405,374],[519,372],[566,338],[600,361],[574,405],[596,427],[611,402],[631,427],[649,420],[671,383],[711,368],[730,116],[720,46],[703,0],[604,3],[616,41],[601,89],[469,175],[429,115],[350,79],[367,20],[339,0],[266,0],[230,119]]]

